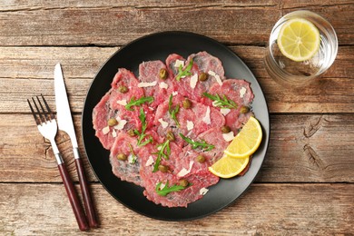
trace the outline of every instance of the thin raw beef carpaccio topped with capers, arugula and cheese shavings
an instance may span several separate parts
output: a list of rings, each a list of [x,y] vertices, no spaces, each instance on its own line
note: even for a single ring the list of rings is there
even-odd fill
[[[187,207],[219,182],[208,167],[248,121],[253,96],[250,83],[225,77],[217,57],[170,54],[142,62],[137,75],[119,68],[93,128],[114,175],[156,204]]]

